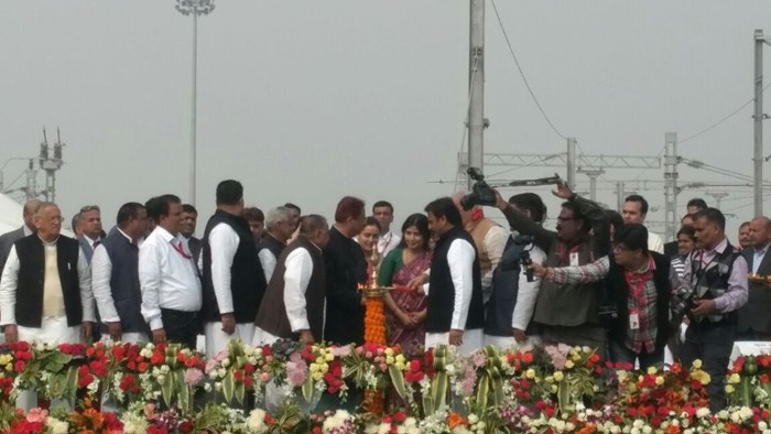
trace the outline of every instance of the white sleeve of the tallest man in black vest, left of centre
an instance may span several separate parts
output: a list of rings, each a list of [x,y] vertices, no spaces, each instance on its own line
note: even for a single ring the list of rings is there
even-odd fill
[[[220,314],[234,312],[230,289],[230,269],[236,257],[240,239],[230,225],[220,223],[209,232],[211,250],[211,285],[217,297]]]

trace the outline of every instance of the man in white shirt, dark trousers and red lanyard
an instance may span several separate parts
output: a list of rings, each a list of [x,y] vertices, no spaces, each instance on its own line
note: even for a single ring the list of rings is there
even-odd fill
[[[139,250],[142,315],[153,343],[195,348],[203,296],[198,268],[180,236],[182,203],[174,195],[154,197],[148,202],[148,217],[158,226]]]

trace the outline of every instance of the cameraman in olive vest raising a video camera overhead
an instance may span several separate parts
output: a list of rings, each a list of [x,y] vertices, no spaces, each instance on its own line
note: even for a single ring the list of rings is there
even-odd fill
[[[496,206],[513,230],[534,237],[534,245],[546,252],[547,267],[584,265],[608,254],[605,211],[595,203],[577,197],[562,181],[553,194],[566,200],[557,217],[556,231],[542,228],[503,200],[498,192]],[[544,344],[588,346],[604,358],[607,339],[598,316],[600,294],[599,283],[542,282],[533,321],[540,326]]]

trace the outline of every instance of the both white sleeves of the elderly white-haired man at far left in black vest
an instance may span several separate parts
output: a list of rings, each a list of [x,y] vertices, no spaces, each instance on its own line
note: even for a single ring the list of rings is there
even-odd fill
[[[69,265],[69,264],[68,264]],[[91,292],[91,272],[88,261],[78,248],[77,275],[80,285],[80,306],[83,321],[95,322],[94,293]],[[0,278],[0,325],[17,324],[17,290],[19,289],[19,256],[17,247],[11,247],[8,261]]]

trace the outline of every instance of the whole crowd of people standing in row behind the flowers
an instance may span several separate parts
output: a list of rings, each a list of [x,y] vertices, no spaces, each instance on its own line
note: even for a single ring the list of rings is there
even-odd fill
[[[662,366],[669,348],[703,361],[710,406],[725,406],[734,341],[771,340],[771,291],[748,283],[771,273],[771,220],[742,226],[735,248],[723,213],[692,200],[664,243],[644,226],[639,195],[619,214],[560,183],[552,231],[536,194],[493,193],[509,228],[458,193],[394,232],[384,200],[368,217],[363,200],[346,196],[329,225],[292,204],[248,208],[242,185],[227,180],[200,238],[196,209],[171,194],[122,205],[108,234],[99,207],[84,207],[75,239],[61,235],[55,204],[30,200],[24,225],[0,236],[0,325],[7,341],[52,344],[101,334],[195,347],[204,334],[209,356],[232,338],[362,344],[360,289],[381,286],[391,289],[388,343],[408,355],[562,343],[645,368]]]

